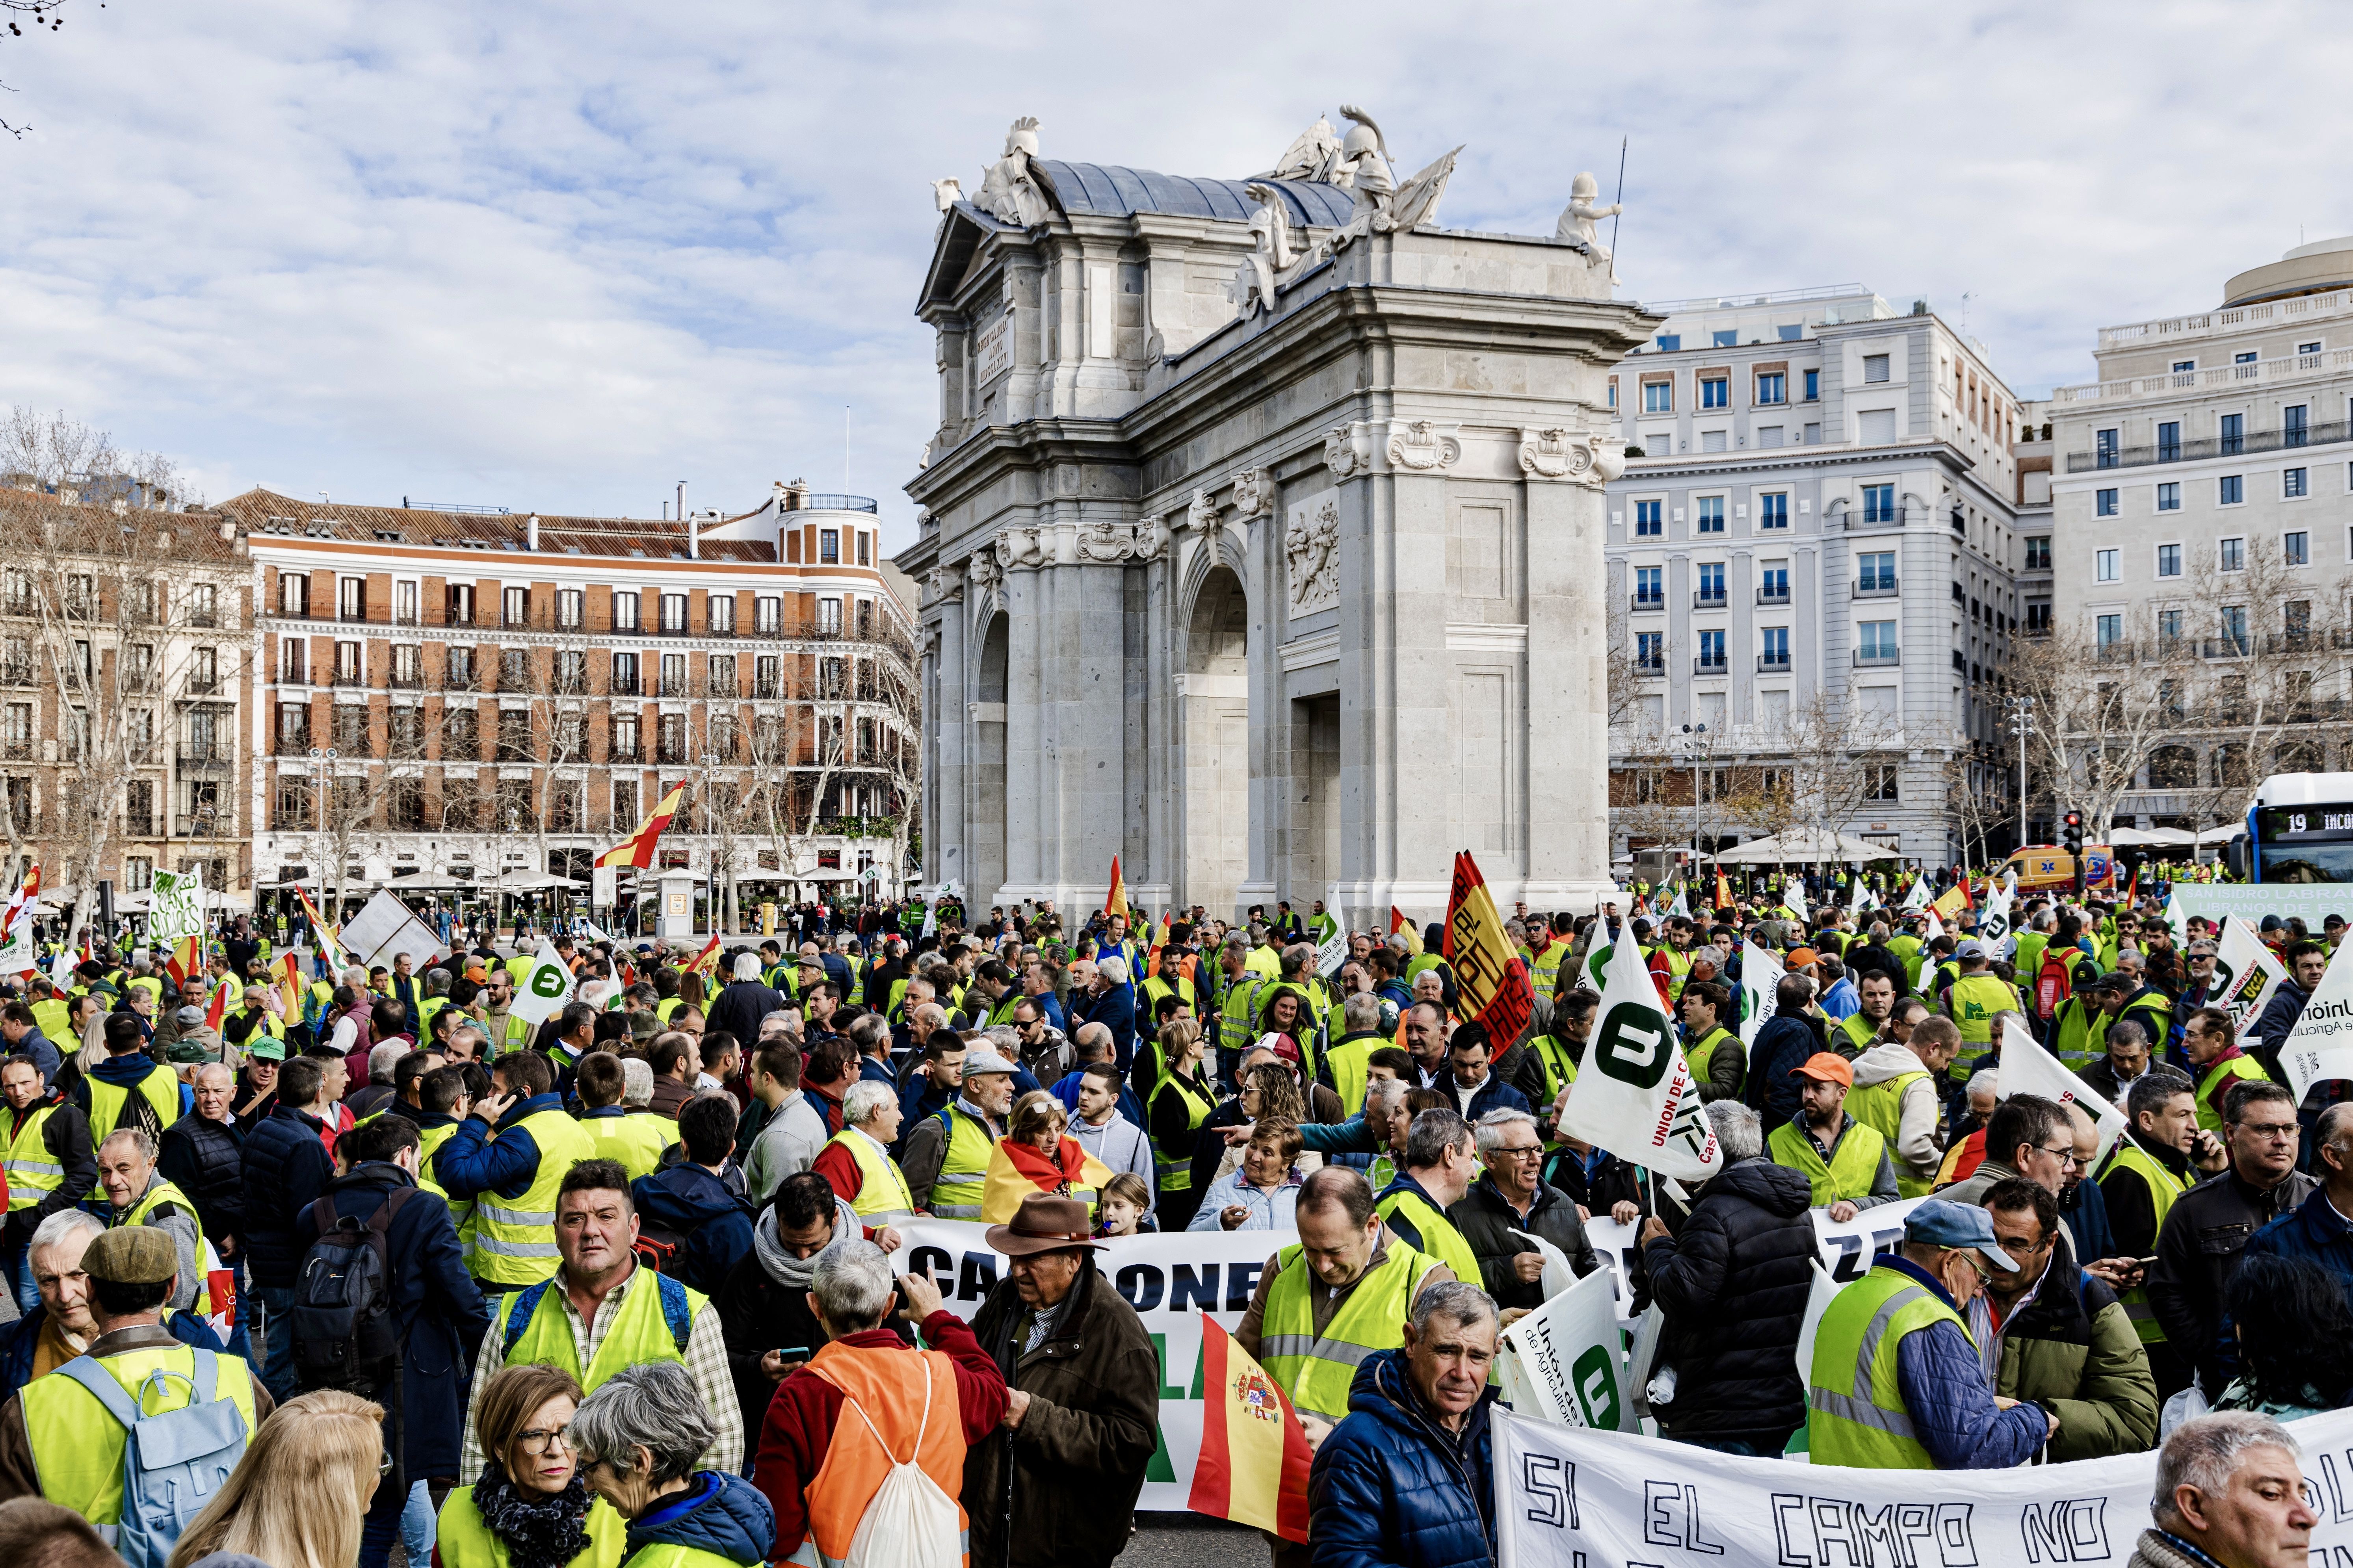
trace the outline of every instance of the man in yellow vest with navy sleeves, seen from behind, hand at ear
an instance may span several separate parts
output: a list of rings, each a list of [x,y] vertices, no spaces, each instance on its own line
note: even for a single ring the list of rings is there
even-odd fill
[[[433,1180],[459,1204],[473,1199],[466,1267],[482,1295],[555,1274],[555,1190],[595,1143],[555,1095],[555,1067],[513,1051],[489,1067],[492,1091],[433,1152]]]

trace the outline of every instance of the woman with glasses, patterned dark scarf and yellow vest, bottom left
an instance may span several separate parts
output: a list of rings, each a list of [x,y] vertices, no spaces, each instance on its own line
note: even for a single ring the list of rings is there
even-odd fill
[[[614,1568],[628,1526],[588,1490],[565,1427],[581,1385],[508,1366],[482,1387],[482,1479],[449,1493],[435,1568]]]

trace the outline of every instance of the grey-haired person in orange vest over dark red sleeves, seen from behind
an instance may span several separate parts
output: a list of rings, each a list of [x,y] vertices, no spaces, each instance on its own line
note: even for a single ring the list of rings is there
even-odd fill
[[[906,1291],[899,1316],[922,1328],[929,1349],[913,1349],[889,1328],[894,1284]],[[871,1497],[849,1497],[849,1507],[835,1507],[842,1500],[826,1497],[824,1523],[809,1516],[807,1505],[809,1486],[826,1467],[840,1425],[849,1422],[849,1432],[861,1434],[871,1422],[889,1453],[913,1453],[920,1425],[925,1469],[960,1474],[965,1453],[988,1441],[1005,1420],[1005,1373],[972,1338],[972,1328],[941,1307],[939,1286],[929,1274],[906,1274],[904,1281],[894,1281],[889,1258],[873,1241],[845,1241],[819,1258],[809,1281],[809,1309],[826,1331],[824,1368],[802,1366],[776,1387],[760,1427],[753,1486],[776,1509],[779,1547],[800,1542],[814,1547],[809,1552],[814,1559],[845,1561],[849,1533],[866,1516]],[[864,1387],[896,1389],[901,1396],[861,1399],[856,1410],[847,1410],[845,1389]],[[925,1389],[936,1396],[929,1403],[939,1406],[929,1418]],[[944,1422],[951,1392],[958,1420]],[[946,1448],[934,1448],[941,1439]],[[946,1469],[936,1469],[934,1462]],[[880,1469],[873,1472],[873,1481],[882,1481]],[[946,1544],[953,1552],[953,1542]]]

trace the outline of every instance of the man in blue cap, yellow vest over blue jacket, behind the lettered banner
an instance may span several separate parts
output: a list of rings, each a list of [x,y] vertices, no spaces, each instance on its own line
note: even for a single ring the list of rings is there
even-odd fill
[[[1911,1211],[1904,1248],[1840,1291],[1814,1331],[1814,1465],[2009,1469],[2042,1448],[2059,1418],[1995,1403],[1960,1316],[1993,1269],[2019,1265],[1984,1208],[1922,1199]]]

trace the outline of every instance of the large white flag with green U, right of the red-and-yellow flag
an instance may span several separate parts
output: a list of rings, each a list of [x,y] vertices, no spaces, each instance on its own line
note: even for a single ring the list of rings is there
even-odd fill
[[[1633,943],[1609,950],[1586,1067],[1569,1084],[1560,1131],[1659,1175],[1706,1180],[1725,1164],[1699,1110],[1692,1065]]]

